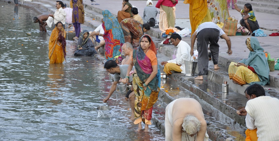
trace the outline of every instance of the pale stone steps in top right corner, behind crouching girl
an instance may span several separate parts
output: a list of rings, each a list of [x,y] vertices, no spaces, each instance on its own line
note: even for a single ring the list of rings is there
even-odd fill
[[[268,13],[279,15],[279,4],[278,3],[266,3],[266,2],[253,2],[253,1],[237,1],[237,6],[241,9],[244,4],[250,3],[253,11],[260,13]]]

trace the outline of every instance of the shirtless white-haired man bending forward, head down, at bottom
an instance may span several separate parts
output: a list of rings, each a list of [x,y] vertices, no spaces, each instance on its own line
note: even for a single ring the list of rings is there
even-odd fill
[[[199,102],[193,98],[179,98],[166,107],[166,141],[208,141],[206,121]]]

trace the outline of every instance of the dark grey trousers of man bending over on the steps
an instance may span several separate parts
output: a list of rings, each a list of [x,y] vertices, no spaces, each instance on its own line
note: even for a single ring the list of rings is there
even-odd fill
[[[208,43],[210,42],[210,52],[212,54],[213,64],[218,64],[219,57],[219,30],[216,28],[205,28],[199,31],[197,39],[198,55],[198,75],[207,75],[208,73]]]

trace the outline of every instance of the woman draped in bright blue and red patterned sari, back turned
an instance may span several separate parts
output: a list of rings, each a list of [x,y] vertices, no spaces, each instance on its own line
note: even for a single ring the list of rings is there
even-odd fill
[[[103,29],[105,40],[105,58],[107,60],[113,60],[116,58],[118,63],[118,57],[121,56],[121,46],[125,43],[123,31],[116,17],[112,16],[109,10],[103,11]]]

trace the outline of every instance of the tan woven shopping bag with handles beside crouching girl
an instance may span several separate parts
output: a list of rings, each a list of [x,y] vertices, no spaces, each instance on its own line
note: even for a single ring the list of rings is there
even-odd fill
[[[234,16],[232,16],[234,17]],[[234,18],[227,18],[226,19],[226,25],[223,27],[223,31],[228,36],[235,36],[236,30],[237,30],[237,19]]]

